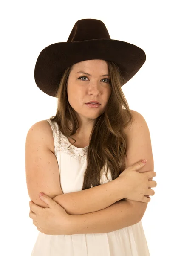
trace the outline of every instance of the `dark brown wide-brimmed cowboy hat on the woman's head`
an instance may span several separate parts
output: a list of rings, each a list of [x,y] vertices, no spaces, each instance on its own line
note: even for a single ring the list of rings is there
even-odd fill
[[[40,52],[34,70],[37,86],[55,97],[65,70],[80,61],[103,59],[119,67],[124,85],[142,67],[145,52],[134,44],[110,38],[101,20],[78,20],[67,42],[51,44]]]

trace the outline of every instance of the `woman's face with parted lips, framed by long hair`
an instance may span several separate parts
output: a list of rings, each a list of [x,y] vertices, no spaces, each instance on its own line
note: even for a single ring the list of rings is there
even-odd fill
[[[105,111],[111,95],[110,77],[107,74],[108,65],[104,60],[78,62],[71,70],[67,87],[68,101],[77,112],[82,125],[94,123],[94,120]],[[85,104],[91,100],[100,102],[99,108],[89,108]]]

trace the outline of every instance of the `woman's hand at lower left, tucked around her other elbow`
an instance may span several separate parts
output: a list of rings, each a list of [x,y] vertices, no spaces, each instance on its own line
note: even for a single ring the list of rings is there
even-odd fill
[[[29,217],[33,219],[33,224],[46,235],[67,235],[70,215],[48,195],[39,195],[39,197],[48,204],[48,207],[43,208],[29,201]]]

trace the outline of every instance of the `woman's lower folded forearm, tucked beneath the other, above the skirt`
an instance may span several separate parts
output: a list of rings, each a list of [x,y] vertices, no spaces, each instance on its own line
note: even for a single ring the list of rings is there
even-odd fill
[[[68,233],[109,233],[138,223],[140,217],[133,204],[121,200],[97,212],[70,215]]]

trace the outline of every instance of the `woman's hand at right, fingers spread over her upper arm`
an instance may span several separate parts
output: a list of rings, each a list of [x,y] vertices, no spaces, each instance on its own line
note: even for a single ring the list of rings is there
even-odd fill
[[[148,203],[150,202],[149,195],[154,195],[155,192],[151,187],[156,187],[155,180],[149,180],[156,176],[156,172],[137,172],[146,163],[142,161],[134,164],[133,166],[125,169],[118,177],[122,181],[123,186],[126,189],[126,198],[134,201]]]

